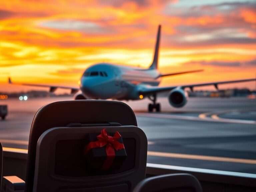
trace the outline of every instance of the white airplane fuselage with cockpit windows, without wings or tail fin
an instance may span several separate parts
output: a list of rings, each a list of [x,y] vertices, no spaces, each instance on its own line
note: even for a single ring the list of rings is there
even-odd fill
[[[80,89],[87,98],[136,100],[143,86],[158,86],[158,70],[99,63],[88,67],[80,80]]]

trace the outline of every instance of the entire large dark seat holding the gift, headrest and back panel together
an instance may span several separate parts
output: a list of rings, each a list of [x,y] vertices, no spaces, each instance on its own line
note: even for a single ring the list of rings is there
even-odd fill
[[[30,131],[25,191],[132,191],[145,178],[147,138],[131,108],[116,101],[76,100],[48,104]],[[118,131],[127,158],[110,171],[87,171],[80,149],[89,133]]]

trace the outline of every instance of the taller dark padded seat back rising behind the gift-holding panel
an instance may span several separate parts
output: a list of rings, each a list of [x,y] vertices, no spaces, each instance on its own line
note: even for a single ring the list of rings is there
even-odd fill
[[[33,190],[37,141],[46,130],[53,127],[65,127],[69,123],[102,122],[137,126],[133,111],[122,102],[60,101],[40,108],[35,114],[30,130],[25,191],[32,192]]]

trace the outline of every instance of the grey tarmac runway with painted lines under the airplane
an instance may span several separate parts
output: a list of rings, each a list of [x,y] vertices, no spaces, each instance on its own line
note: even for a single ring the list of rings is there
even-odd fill
[[[9,115],[0,121],[3,147],[27,149],[35,112],[44,104],[70,100],[8,99]],[[149,100],[126,102],[148,138],[148,163],[256,174],[256,100],[190,98],[184,108],[172,108],[158,98],[162,113],[148,113]]]

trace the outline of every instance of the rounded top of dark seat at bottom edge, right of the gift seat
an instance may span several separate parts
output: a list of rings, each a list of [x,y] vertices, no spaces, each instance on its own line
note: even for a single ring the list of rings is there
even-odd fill
[[[191,174],[167,174],[142,180],[133,192],[202,192],[199,181]]]

